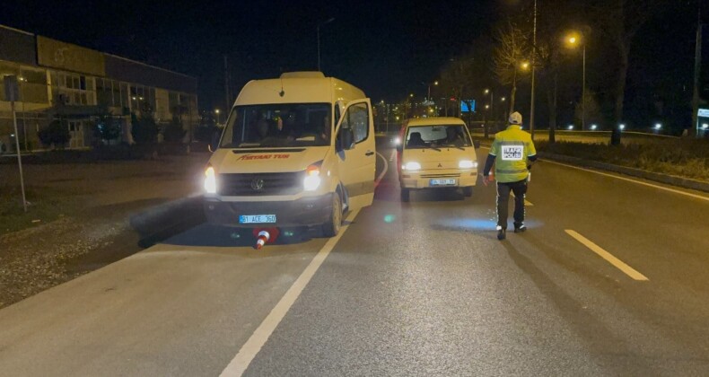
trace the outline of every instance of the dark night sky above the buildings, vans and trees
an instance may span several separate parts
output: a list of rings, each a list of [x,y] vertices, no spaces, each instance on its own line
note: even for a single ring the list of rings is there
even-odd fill
[[[670,87],[691,86],[696,17],[687,1],[678,0],[684,5],[678,5],[677,12],[664,13],[643,28],[648,38],[634,44],[629,89],[634,83],[652,87],[667,82],[668,76]],[[354,83],[373,101],[396,101],[407,92],[423,96],[423,82],[436,79],[451,57],[480,35],[490,34],[495,22],[523,12],[522,3],[23,0],[5,1],[0,23],[194,75],[199,80],[200,108],[212,109],[223,107],[224,55],[231,66],[232,93],[250,79],[315,70],[316,27],[331,17],[335,21],[322,26],[320,33],[326,75]],[[613,76],[604,71],[614,57],[598,50],[603,45],[599,40],[596,48],[590,47],[591,87],[594,81],[600,84]],[[579,63],[570,69],[578,70]],[[578,89],[570,86],[570,91]]]

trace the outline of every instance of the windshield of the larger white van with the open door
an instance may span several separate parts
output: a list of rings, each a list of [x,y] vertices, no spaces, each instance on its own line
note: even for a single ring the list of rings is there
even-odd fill
[[[330,145],[331,114],[328,103],[237,106],[229,116],[220,147]]]

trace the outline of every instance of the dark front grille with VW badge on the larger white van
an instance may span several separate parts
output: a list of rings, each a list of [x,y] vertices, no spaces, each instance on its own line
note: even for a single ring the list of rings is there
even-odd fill
[[[302,171],[274,173],[219,174],[219,195],[250,197],[293,195],[302,190]]]

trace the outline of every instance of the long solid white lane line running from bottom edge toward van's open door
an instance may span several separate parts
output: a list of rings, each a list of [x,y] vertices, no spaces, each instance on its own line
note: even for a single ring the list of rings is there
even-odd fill
[[[351,219],[350,221],[355,220],[358,213],[359,209],[353,211],[347,218]],[[261,347],[266,344],[266,341],[271,334],[273,334],[278,324],[284,319],[285,314],[291,309],[291,306],[293,306],[293,302],[301,295],[303,288],[308,285],[312,276],[318,271],[322,262],[328,258],[330,251],[335,248],[337,241],[342,238],[342,235],[345,234],[348,228],[349,224],[343,225],[340,232],[337,233],[337,236],[329,239],[328,242],[325,243],[325,246],[318,251],[318,254],[311,260],[308,267],[305,267],[302,271],[301,276],[298,276],[298,279],[295,280],[284,296],[281,297],[281,300],[276,303],[276,306],[268,313],[266,319],[258,325],[258,329],[256,329],[254,333],[251,334],[249,340],[241,346],[239,353],[236,354],[229,365],[224,368],[220,376],[236,377],[246,372],[251,361],[258,355]]]

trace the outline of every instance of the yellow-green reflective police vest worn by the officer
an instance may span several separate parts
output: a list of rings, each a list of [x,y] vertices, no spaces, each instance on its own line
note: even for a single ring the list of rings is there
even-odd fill
[[[521,126],[510,125],[495,135],[490,154],[495,156],[495,179],[517,182],[527,179],[530,173],[527,158],[536,155],[537,150],[529,133],[522,131]]]

